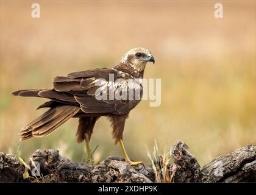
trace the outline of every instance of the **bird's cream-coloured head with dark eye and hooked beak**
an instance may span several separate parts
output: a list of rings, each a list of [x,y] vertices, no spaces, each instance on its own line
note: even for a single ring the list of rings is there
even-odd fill
[[[153,62],[155,59],[148,49],[145,48],[133,48],[130,49],[121,59],[121,63],[125,63],[137,71],[144,71],[146,63]]]

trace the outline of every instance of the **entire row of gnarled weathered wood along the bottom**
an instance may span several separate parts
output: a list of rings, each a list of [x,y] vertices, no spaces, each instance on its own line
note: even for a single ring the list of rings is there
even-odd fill
[[[246,146],[215,158],[200,170],[188,146],[177,141],[172,149],[174,182],[255,182],[256,146]],[[162,157],[155,165],[162,166]],[[0,182],[155,182],[152,165],[130,166],[124,158],[108,157],[98,165],[73,163],[54,149],[37,150],[27,163],[31,177],[23,179],[24,165],[0,152]],[[39,169],[39,170],[38,170]],[[39,174],[40,173],[40,174]],[[167,174],[168,175],[168,174]],[[35,177],[36,176],[36,177]]]

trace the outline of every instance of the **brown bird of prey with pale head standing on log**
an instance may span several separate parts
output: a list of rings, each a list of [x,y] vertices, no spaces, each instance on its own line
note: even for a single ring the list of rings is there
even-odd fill
[[[49,110],[21,129],[21,140],[45,137],[69,118],[79,118],[77,142],[85,140],[88,157],[93,127],[101,116],[107,116],[113,127],[115,144],[119,142],[121,145],[125,160],[130,165],[138,165],[141,161],[131,161],[126,153],[123,131],[130,111],[142,98],[142,80],[148,62],[155,63],[151,51],[133,48],[113,68],[90,69],[54,77],[52,90],[44,88],[13,91],[15,96],[49,99],[37,108],[48,107]]]

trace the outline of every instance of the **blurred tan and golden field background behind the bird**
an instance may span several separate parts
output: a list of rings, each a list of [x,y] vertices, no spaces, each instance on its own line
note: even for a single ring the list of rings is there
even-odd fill
[[[77,119],[49,137],[19,141],[21,127],[41,115],[45,99],[11,96],[13,90],[52,88],[52,78],[112,67],[131,48],[154,54],[144,77],[162,79],[162,104],[141,103],[130,113],[124,143],[130,158],[149,162],[146,146],[160,151],[185,141],[201,165],[256,144],[256,2],[0,0],[0,151],[25,160],[35,149],[59,149],[84,160],[76,143]],[[94,128],[96,161],[122,156],[106,118]]]

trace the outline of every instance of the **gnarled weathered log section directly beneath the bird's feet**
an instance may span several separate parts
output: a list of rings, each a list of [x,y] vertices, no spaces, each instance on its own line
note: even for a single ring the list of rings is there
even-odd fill
[[[28,163],[30,176],[36,175],[35,162],[40,165],[40,176],[35,180],[43,177],[40,180],[43,182],[48,181],[49,175],[52,182],[151,182],[150,179],[154,179],[151,168],[146,169],[144,165],[130,166],[118,157],[108,157],[99,165],[88,165],[73,163],[61,157],[57,150],[37,150]]]

